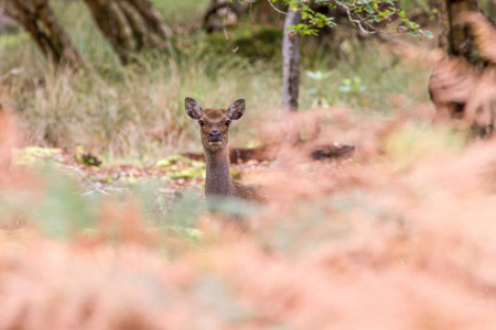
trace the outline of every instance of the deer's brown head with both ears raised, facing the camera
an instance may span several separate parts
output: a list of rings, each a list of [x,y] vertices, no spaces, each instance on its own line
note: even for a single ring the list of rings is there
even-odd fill
[[[200,134],[205,152],[217,152],[227,147],[229,124],[245,112],[245,100],[234,101],[227,110],[205,109],[192,98],[186,98],[186,113],[200,124]]]

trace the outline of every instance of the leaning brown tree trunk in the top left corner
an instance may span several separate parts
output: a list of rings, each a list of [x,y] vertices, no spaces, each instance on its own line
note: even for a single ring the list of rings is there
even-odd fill
[[[83,61],[58,23],[48,0],[0,0],[0,9],[21,23],[54,64],[77,68]]]

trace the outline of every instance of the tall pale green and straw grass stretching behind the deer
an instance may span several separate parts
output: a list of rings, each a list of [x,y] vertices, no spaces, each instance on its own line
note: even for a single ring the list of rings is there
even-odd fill
[[[196,26],[207,2],[157,1],[157,7],[171,26],[179,22]],[[254,62],[228,50],[219,54],[212,51],[218,37],[192,30],[174,36],[175,57],[143,54],[132,65],[122,67],[84,3],[60,1],[54,6],[90,67],[76,75],[57,70],[25,37],[0,47],[0,72],[24,69],[8,81],[2,97],[10,98],[18,109],[26,144],[66,148],[85,145],[108,160],[127,156],[147,162],[180,151],[200,150],[194,127],[183,111],[186,96],[200,100],[204,107],[227,107],[234,99],[245,98],[247,116],[242,128],[235,127],[233,133],[238,145],[256,139],[254,128],[265,113],[278,111],[280,56]],[[236,30],[228,33],[236,38]],[[300,91],[303,110],[314,102],[309,92],[314,81],[304,75],[306,69],[331,70],[332,78],[325,85],[330,102],[363,109],[365,113],[388,113],[392,109],[389,98],[397,94],[402,95],[408,106],[427,99],[425,90],[416,87],[425,86],[428,73],[401,62],[395,64],[397,59],[382,45],[353,43],[347,61],[337,59],[331,50],[303,41]],[[357,57],[356,53],[368,56]],[[339,91],[344,79],[355,78],[360,79],[364,90]],[[238,130],[242,130],[242,136],[238,136]]]

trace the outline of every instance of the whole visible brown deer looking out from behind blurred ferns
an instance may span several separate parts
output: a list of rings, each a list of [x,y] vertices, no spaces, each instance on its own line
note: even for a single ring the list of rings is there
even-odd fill
[[[235,197],[261,201],[255,187],[233,180],[229,172],[229,124],[245,112],[245,100],[233,102],[227,110],[205,109],[192,98],[186,98],[186,113],[200,124],[200,135],[205,151],[205,197]]]

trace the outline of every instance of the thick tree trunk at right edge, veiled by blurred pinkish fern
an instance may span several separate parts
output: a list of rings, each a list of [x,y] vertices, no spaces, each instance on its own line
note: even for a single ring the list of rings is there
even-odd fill
[[[477,0],[443,0],[440,13],[446,57],[429,80],[438,118],[461,120],[473,136],[489,138],[496,124],[496,30]]]

